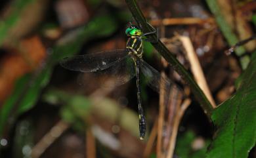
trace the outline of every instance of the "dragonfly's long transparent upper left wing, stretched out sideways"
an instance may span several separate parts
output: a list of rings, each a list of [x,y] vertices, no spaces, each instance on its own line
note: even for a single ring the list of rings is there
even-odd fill
[[[96,52],[92,54],[70,56],[62,59],[60,65],[72,71],[95,72],[115,65],[127,56],[125,49]]]

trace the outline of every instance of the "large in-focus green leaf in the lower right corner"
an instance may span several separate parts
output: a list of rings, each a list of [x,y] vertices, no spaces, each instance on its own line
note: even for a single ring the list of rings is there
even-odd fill
[[[213,111],[215,137],[207,158],[245,158],[256,141],[256,53],[236,94]]]

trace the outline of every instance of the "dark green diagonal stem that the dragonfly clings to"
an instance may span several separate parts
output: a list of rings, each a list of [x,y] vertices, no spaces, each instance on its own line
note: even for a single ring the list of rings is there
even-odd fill
[[[131,10],[131,13],[133,14],[133,17],[137,21],[137,23],[140,25],[140,28],[142,28],[143,32],[152,32],[154,29],[148,25],[146,22],[146,19],[144,18],[141,10],[139,9],[139,6],[135,0],[125,0],[127,3],[127,6]],[[213,111],[213,106],[211,106],[209,100],[207,100],[205,94],[203,94],[203,91],[198,87],[198,84],[192,79],[191,75],[186,71],[186,69],[182,66],[182,64],[169,52],[169,50],[161,43],[161,41],[156,37],[156,35],[147,35],[147,38],[150,39],[150,41],[158,41],[157,43],[152,43],[154,48],[158,50],[158,52],[173,66],[175,71],[181,75],[181,77],[188,83],[190,88],[192,89],[193,94],[196,96],[196,99],[198,102],[200,102],[200,105],[202,106],[202,109],[204,113],[207,115],[208,118],[211,117],[211,113]]]

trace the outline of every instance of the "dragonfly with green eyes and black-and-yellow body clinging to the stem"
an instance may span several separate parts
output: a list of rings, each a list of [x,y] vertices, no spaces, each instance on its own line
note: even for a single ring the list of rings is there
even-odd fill
[[[142,30],[138,26],[131,25],[125,30],[128,38],[125,49],[68,56],[60,62],[62,67],[72,71],[80,71],[81,73],[103,72],[112,75],[115,78],[114,85],[122,85],[133,77],[136,77],[140,140],[143,140],[146,135],[146,118],[140,98],[140,72],[146,77],[147,85],[156,92],[160,92],[160,84],[165,85],[161,87],[161,90],[164,90],[167,94],[170,89],[181,91],[178,85],[169,78],[162,77],[156,69],[142,59],[142,41],[149,41],[144,37],[152,33],[156,33],[156,30],[149,33],[142,33]]]

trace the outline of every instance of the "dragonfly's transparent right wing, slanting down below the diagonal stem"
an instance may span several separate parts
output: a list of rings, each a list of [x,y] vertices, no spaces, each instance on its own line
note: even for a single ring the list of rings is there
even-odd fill
[[[148,63],[144,62],[144,60],[139,60],[140,70],[146,77],[146,83],[151,89],[160,93],[160,84],[163,84],[163,90],[165,91],[165,94],[169,94],[171,89],[182,92],[181,88],[179,88],[178,85],[171,81],[168,77],[162,77],[158,70],[154,69]]]

